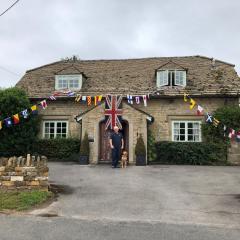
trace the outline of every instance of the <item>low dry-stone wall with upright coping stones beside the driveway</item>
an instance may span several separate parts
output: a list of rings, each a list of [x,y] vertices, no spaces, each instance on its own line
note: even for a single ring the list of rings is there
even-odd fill
[[[0,158],[0,191],[48,191],[48,172],[45,156]]]

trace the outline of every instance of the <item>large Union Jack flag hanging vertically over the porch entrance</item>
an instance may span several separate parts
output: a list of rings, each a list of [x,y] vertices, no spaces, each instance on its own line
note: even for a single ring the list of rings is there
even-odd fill
[[[113,129],[114,126],[118,126],[120,129],[122,129],[121,102],[122,102],[121,96],[106,96],[106,105],[105,105],[106,129],[108,129],[109,127]]]

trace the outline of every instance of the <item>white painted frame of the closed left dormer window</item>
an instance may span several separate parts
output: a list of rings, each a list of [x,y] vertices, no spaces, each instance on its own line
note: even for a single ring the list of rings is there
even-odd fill
[[[76,79],[78,77],[78,79]],[[74,79],[73,79],[74,78]],[[55,75],[55,90],[62,90],[66,88],[59,87],[59,80],[66,80],[67,81],[67,89],[71,90],[80,90],[82,88],[82,74],[62,74],[62,75]],[[71,80],[78,80],[78,87],[70,87]]]

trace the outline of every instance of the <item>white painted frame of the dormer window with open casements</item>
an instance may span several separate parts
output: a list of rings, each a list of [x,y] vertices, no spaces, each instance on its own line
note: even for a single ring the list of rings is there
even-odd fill
[[[169,84],[169,78],[168,78],[168,73],[169,72],[174,72],[175,73],[175,79],[174,79],[174,84],[176,86],[181,86],[181,87],[186,87],[187,84],[187,73],[185,70],[179,70],[179,69],[175,69],[175,70],[158,70],[157,71],[157,87],[164,87],[164,86],[168,86]],[[182,84],[181,82],[181,73],[182,73]],[[162,75],[161,75],[162,74]],[[177,83],[177,74],[179,74],[179,83]],[[170,81],[170,86],[172,86],[172,81]]]

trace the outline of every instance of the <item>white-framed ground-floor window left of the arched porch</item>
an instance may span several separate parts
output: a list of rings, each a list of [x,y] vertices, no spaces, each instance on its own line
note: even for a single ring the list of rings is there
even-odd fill
[[[43,122],[43,138],[67,138],[68,121],[48,120]]]

